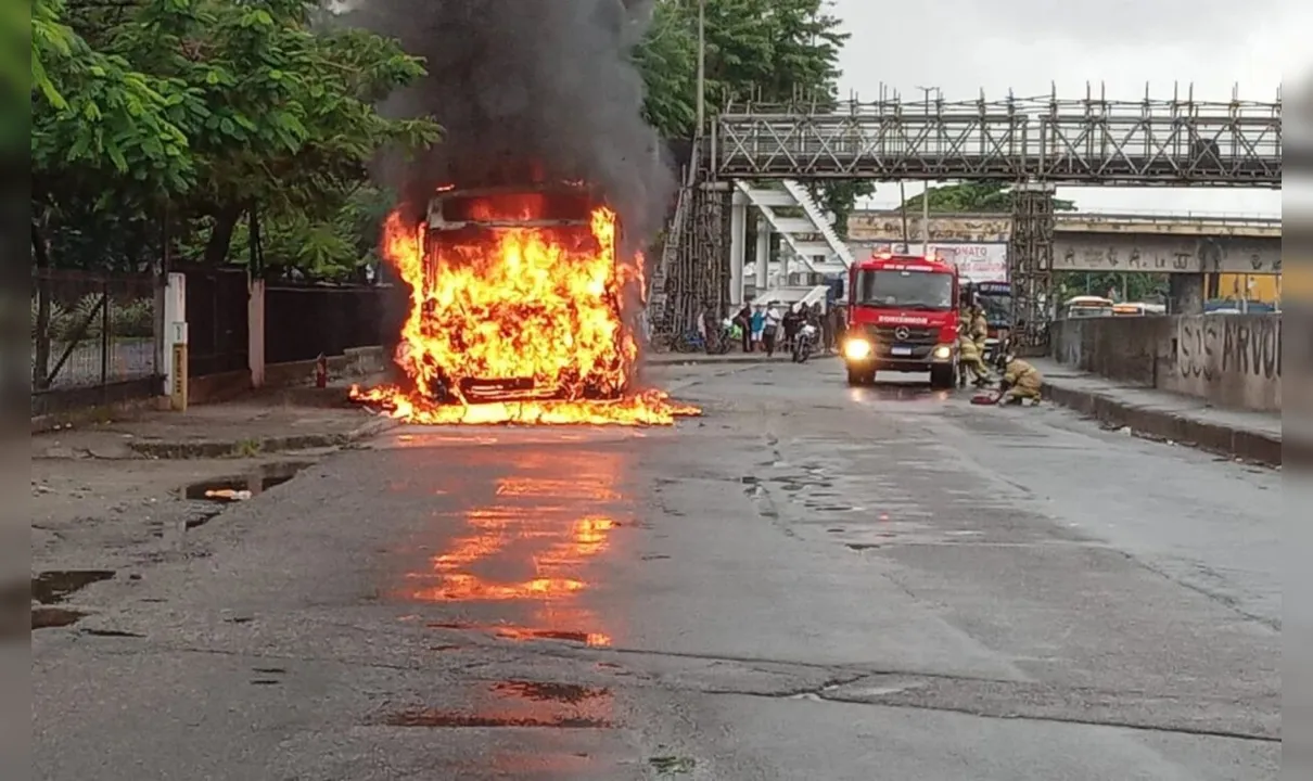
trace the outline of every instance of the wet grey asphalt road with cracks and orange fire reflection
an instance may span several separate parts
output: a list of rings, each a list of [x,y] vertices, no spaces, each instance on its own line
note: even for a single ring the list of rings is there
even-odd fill
[[[400,429],[33,635],[50,780],[1278,777],[1278,473],[835,361]]]

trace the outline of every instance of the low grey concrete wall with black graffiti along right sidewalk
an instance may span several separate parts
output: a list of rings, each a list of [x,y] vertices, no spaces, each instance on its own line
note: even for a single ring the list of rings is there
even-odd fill
[[[1280,315],[1091,318],[1052,333],[1061,364],[1217,407],[1281,411]]]

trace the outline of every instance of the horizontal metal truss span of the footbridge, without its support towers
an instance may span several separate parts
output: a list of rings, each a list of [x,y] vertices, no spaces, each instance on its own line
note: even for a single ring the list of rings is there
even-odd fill
[[[718,179],[1281,186],[1281,101],[1018,98],[729,106]]]

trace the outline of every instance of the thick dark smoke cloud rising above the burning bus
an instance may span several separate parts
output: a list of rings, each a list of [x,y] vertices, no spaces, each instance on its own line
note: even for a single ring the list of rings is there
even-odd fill
[[[629,53],[654,0],[357,0],[351,24],[398,38],[428,77],[390,98],[433,116],[442,143],[385,177],[421,209],[442,184],[587,181],[630,242],[662,227],[675,180],[641,116]]]

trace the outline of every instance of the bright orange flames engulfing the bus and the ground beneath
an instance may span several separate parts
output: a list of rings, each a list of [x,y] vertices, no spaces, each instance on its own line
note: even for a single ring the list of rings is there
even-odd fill
[[[525,221],[544,203],[475,203],[471,218]],[[632,285],[643,290],[642,259],[617,263],[613,211],[597,207],[590,223],[439,243],[394,211],[383,255],[411,289],[395,361],[414,390],[352,387],[352,398],[421,424],[668,425],[699,415],[662,391],[626,392],[638,345],[620,302]],[[481,400],[481,387],[498,390]]]

